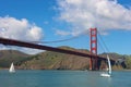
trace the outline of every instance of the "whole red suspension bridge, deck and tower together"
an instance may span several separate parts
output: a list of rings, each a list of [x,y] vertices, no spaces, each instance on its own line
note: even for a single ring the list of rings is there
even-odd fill
[[[9,38],[0,38],[0,44],[5,45],[5,46],[19,46],[19,47],[34,48],[34,49],[48,50],[48,51],[55,51],[55,52],[91,58],[90,70],[98,70],[98,64],[97,64],[98,61],[102,61],[102,60],[106,61],[107,59],[97,55],[97,29],[91,28],[90,35],[91,35],[91,53],[90,54],[78,52],[78,51],[71,51],[71,50],[66,50],[66,49],[60,49],[60,48],[37,45],[33,42],[27,42],[27,41],[9,39]],[[115,62],[115,60],[112,59],[111,61]]]

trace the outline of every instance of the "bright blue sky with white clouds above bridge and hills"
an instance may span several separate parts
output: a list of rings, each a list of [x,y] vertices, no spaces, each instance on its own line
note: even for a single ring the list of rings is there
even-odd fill
[[[90,27],[98,28],[110,52],[131,54],[130,0],[0,0],[1,37],[53,41],[79,36],[44,45],[90,49],[84,34]]]

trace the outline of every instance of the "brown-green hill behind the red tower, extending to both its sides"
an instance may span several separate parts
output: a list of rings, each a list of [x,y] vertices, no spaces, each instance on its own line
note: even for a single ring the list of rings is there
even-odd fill
[[[70,47],[60,47],[61,49],[74,50],[79,52],[90,53],[88,50],[74,49]],[[99,54],[106,57],[107,53]],[[118,53],[108,53],[111,59],[116,59],[117,62],[112,64],[112,70],[123,70],[126,69],[126,63],[123,55]],[[105,65],[105,62],[100,62],[99,67]],[[20,67],[28,70],[88,70],[90,59],[64,54],[59,52],[45,51],[37,55],[34,55],[32,60],[26,61]]]

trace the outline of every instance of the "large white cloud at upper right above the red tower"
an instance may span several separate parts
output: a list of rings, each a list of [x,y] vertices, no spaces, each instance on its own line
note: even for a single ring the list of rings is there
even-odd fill
[[[58,0],[58,5],[59,18],[72,24],[74,34],[91,27],[131,30],[131,9],[117,0]]]

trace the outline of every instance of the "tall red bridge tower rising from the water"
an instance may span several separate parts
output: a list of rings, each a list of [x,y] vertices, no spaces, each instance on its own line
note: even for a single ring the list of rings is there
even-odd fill
[[[97,55],[97,28],[90,28],[91,54]],[[90,59],[90,70],[98,70],[97,58]]]

